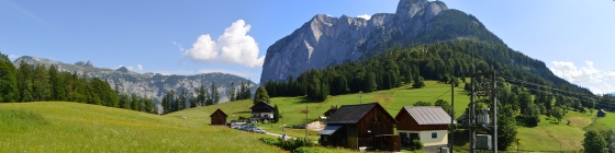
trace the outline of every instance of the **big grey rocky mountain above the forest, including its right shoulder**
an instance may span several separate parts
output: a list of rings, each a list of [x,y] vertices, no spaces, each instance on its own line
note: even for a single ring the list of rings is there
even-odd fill
[[[502,43],[474,16],[441,1],[400,0],[394,14],[378,13],[370,20],[318,14],[267,49],[260,83],[369,58],[393,46],[449,39]]]

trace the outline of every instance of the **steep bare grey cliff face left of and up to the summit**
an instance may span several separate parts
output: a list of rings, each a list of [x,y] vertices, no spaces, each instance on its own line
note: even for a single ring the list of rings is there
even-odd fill
[[[395,14],[378,13],[370,20],[315,15],[267,49],[260,84],[297,78],[310,69],[355,61],[407,44],[409,39],[428,33],[433,19],[447,10],[440,1],[401,0]]]

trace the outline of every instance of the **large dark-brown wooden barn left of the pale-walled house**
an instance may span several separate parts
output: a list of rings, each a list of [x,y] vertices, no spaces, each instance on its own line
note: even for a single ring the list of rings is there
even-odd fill
[[[344,105],[327,119],[318,141],[325,146],[400,151],[400,138],[393,134],[396,123],[378,103]]]

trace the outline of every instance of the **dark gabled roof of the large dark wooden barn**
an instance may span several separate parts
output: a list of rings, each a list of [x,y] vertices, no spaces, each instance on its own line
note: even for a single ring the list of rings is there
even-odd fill
[[[359,105],[343,105],[331,116],[327,118],[327,123],[357,123],[364,116],[369,113],[369,110],[379,108],[382,109],[384,114],[387,114],[391,119],[395,120],[380,104],[378,103],[369,103],[369,104],[359,104]],[[396,123],[398,121],[395,121]]]

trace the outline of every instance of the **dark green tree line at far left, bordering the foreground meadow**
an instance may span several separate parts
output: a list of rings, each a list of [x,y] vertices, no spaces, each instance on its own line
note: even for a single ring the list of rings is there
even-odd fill
[[[87,72],[66,72],[57,67],[30,66],[15,68],[7,55],[0,54],[0,102],[76,102],[157,114],[149,98],[114,91],[109,82],[90,79]]]

